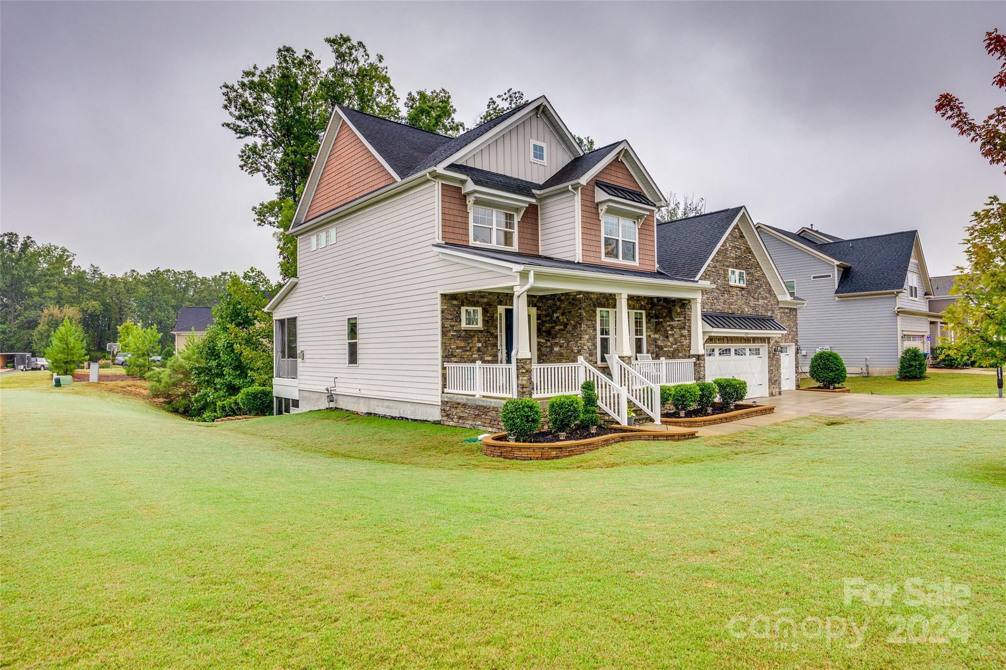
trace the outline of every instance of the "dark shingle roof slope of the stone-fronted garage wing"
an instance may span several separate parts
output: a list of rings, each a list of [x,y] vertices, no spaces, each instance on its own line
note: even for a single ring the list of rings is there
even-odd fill
[[[668,274],[698,279],[742,207],[657,223],[657,265]]]

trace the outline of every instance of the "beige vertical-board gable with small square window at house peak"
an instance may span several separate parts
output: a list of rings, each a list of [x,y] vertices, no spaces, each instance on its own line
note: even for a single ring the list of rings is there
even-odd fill
[[[531,140],[547,147],[548,165],[531,163]],[[496,140],[462,161],[464,165],[498,172],[540,184],[572,160],[545,120],[531,115]]]

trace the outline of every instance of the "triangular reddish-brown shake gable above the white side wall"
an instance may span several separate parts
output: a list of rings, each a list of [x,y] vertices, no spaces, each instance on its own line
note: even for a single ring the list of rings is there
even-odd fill
[[[394,182],[349,124],[340,124],[305,221]]]

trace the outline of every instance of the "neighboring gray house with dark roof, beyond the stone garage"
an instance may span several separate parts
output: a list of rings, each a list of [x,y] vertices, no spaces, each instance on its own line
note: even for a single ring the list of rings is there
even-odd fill
[[[918,233],[842,239],[812,228],[796,233],[758,224],[759,234],[799,311],[800,363],[815,353],[837,352],[851,374],[893,374],[907,347],[930,352],[933,285]]]

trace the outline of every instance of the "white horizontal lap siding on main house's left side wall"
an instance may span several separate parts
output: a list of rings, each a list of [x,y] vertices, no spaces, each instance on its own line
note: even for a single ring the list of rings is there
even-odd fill
[[[347,216],[336,242],[298,240],[298,284],[275,318],[296,316],[298,386],[440,404],[440,293],[498,285],[504,275],[440,258],[433,183]],[[328,230],[328,229],[326,229]],[[346,318],[358,318],[358,366],[346,365]]]

